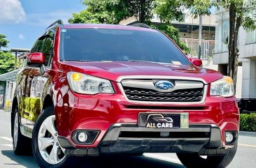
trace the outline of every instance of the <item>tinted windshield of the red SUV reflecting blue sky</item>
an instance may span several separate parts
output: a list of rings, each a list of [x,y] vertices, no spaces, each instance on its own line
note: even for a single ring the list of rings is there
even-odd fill
[[[190,65],[164,34],[122,29],[62,29],[62,61],[152,61]]]

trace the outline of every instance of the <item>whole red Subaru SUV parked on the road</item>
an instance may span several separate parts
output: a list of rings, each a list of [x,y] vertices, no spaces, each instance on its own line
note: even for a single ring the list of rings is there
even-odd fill
[[[40,167],[116,153],[226,167],[239,131],[234,84],[200,66],[155,29],[57,21],[17,75],[13,150],[31,147]]]

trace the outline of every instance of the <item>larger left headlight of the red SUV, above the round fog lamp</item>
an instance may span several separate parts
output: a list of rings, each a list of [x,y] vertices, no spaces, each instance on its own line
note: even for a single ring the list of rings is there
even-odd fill
[[[107,79],[85,75],[79,72],[67,73],[69,86],[77,93],[97,94],[97,93],[115,93],[111,82]]]

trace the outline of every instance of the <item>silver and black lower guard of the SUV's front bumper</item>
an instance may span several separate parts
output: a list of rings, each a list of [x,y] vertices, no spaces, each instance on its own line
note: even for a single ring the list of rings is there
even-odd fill
[[[164,132],[164,134],[162,134]],[[162,136],[164,135],[164,136]],[[220,128],[217,125],[190,125],[186,129],[138,128],[136,124],[114,124],[97,148],[74,148],[64,137],[59,143],[66,155],[111,153],[200,153],[222,155]]]

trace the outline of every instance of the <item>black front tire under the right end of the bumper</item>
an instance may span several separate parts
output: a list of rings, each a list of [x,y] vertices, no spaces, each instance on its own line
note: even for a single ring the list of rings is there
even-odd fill
[[[233,148],[229,148],[227,155],[211,155],[207,158],[202,158],[194,153],[177,153],[180,162],[187,168],[225,168],[232,162],[236,155],[237,144]]]

